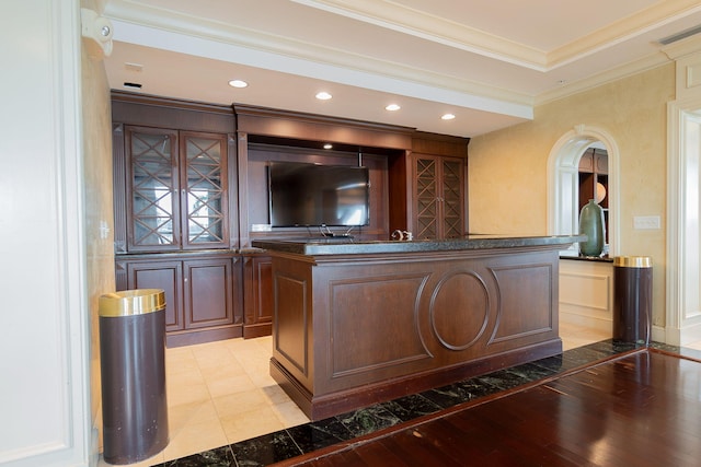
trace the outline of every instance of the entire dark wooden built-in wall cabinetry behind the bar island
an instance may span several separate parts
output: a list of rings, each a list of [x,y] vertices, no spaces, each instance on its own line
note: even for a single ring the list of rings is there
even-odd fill
[[[353,232],[359,240],[389,240],[395,229],[416,238],[467,232],[466,138],[246,105],[112,97],[117,288],[165,290],[171,345],[269,334],[271,260],[231,255],[252,238],[313,234],[266,229],[269,161],[367,166],[370,221]]]

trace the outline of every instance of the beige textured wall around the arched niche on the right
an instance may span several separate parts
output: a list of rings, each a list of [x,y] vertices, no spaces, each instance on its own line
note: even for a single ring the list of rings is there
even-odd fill
[[[597,127],[620,150],[620,255],[651,256],[653,325],[665,326],[667,102],[669,63],[536,107],[532,121],[473,138],[469,147],[470,231],[548,233],[548,157],[575,125]],[[633,230],[634,215],[659,215],[663,229]]]

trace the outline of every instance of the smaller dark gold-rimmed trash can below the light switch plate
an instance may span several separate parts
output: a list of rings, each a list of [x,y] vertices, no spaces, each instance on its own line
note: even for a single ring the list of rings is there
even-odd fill
[[[647,256],[613,258],[613,340],[650,345],[653,262]]]

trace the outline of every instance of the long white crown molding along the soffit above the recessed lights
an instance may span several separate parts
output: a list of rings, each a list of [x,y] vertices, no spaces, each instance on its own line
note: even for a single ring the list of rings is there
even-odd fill
[[[175,42],[172,40],[172,34],[182,35],[189,38],[202,39],[205,44],[217,45],[217,49],[220,49],[222,45],[231,46],[234,48],[244,48],[253,52],[271,54],[272,56],[277,56],[283,59],[291,58],[302,60],[313,63],[313,69],[318,69],[321,65],[335,69],[344,69],[349,72],[370,74],[384,80],[390,79],[394,82],[404,83],[404,93],[406,93],[406,90],[410,87],[414,89],[415,92],[434,90],[434,98],[443,98],[456,105],[466,105],[486,112],[494,112],[496,105],[496,107],[499,108],[498,112],[505,113],[506,115],[525,118],[532,117],[532,96],[453,75],[435,73],[429,70],[379,60],[374,57],[352,54],[319,44],[261,33],[245,27],[231,26],[225,22],[182,14],[168,9],[147,7],[128,0],[111,1],[107,11],[105,11],[105,16],[115,22],[117,26],[115,28],[115,40],[138,43],[131,38],[138,35],[141,37],[140,45],[168,48],[173,51],[183,52],[183,50],[176,48]],[[133,32],[131,34],[127,34],[130,36],[129,38],[122,36],[119,26],[123,26],[122,32],[125,30]],[[136,26],[136,28],[131,26]],[[134,33],[137,28],[139,32]],[[156,36],[159,34],[164,37],[169,34],[170,36],[164,40],[153,40],[158,44],[148,44],[145,42],[146,36],[156,39]],[[164,46],[163,44],[169,45]],[[214,48],[215,47],[212,47],[212,49]],[[204,48],[199,47],[198,50],[199,55],[206,55]],[[230,57],[241,58],[241,55],[237,54],[214,54],[207,56],[208,58],[222,61],[231,61]],[[275,69],[271,60],[265,61],[266,63],[264,65],[253,62],[245,65]],[[275,71],[290,72],[285,69],[275,69]],[[311,78],[319,78],[319,75],[314,74]],[[368,83],[368,87],[371,87],[370,83]],[[386,89],[377,90],[387,91]],[[394,91],[398,92],[397,90]],[[409,92],[410,94],[407,95],[411,95],[411,91]],[[439,97],[441,95],[445,97]],[[424,97],[423,95],[413,96]],[[464,104],[468,102],[469,105]]]

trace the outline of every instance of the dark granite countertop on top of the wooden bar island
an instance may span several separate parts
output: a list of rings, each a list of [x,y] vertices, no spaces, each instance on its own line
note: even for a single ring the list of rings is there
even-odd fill
[[[516,248],[528,246],[562,246],[586,240],[585,235],[513,236],[467,235],[444,241],[359,241],[352,237],[311,237],[288,240],[255,240],[252,245],[271,252],[297,255],[363,255],[380,253],[429,253],[466,249]]]

